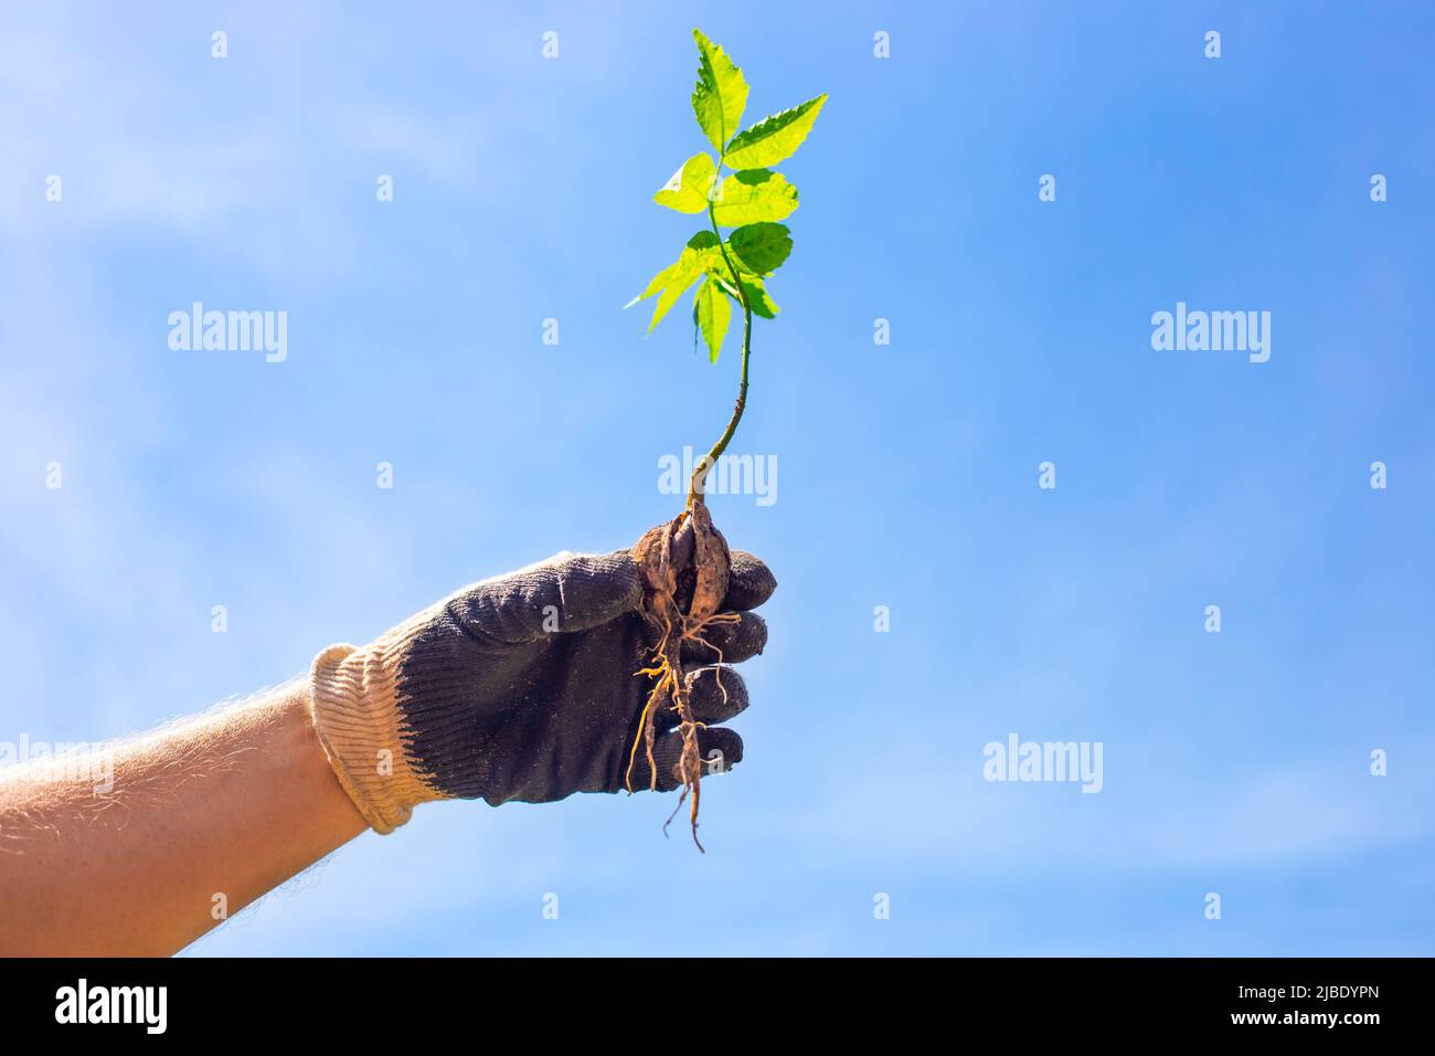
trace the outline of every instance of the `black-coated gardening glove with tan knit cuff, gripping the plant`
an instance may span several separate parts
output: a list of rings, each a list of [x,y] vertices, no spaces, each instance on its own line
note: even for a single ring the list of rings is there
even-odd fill
[[[725,665],[762,652],[768,628],[751,609],[776,588],[768,566],[732,552],[712,648],[684,642],[695,718],[716,724],[748,707],[742,678]],[[372,644],[331,645],[314,659],[311,708],[329,761],[372,828],[392,832],[432,799],[548,803],[574,792],[617,792],[650,678],[656,632],[639,613],[643,588],[627,550],[561,553],[468,586]],[[720,657],[719,657],[720,654]],[[703,665],[703,667],[697,667]],[[667,718],[669,721],[663,721]],[[660,717],[653,749],[657,787],[677,787],[676,715]],[[713,772],[742,759],[732,730],[700,730]],[[715,754],[718,753],[718,754]],[[631,787],[647,789],[647,753]]]

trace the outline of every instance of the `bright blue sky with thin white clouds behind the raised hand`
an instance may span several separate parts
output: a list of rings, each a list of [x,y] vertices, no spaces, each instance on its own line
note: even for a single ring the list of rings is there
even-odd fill
[[[831,95],[735,441],[776,501],[712,500],[781,589],[709,853],[650,797],[428,806],[192,953],[1435,953],[1431,14],[509,7],[0,16],[10,740],[673,516],[735,349],[620,306],[696,230],[650,200],[703,147],[689,33],[751,118]],[[288,358],[171,351],[195,300]],[[1270,361],[1152,351],[1177,302],[1270,312]],[[1101,743],[1102,792],[984,780],[1010,733]]]

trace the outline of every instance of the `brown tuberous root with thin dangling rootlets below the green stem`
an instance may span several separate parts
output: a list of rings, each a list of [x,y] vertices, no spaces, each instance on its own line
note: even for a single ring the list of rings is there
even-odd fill
[[[702,799],[703,760],[697,731],[703,724],[693,717],[687,700],[682,651],[683,642],[687,641],[713,648],[712,642],[702,636],[703,629],[710,624],[736,619],[732,613],[719,612],[732,573],[728,540],[713,526],[712,514],[699,496],[680,516],[649,530],[633,547],[633,556],[643,573],[643,616],[659,632],[659,642],[649,667],[637,672],[653,678],[653,688],[643,707],[633,749],[629,751],[624,783],[629,792],[633,792],[633,764],[641,743],[647,751],[649,787],[657,789],[657,763],[653,759],[657,717],[663,711],[676,713],[683,747],[673,767],[673,776],[683,792],[667,822],[670,823],[690,799],[693,843],[702,851],[703,845],[697,839],[697,805]],[[722,664],[722,652],[716,648],[713,651]],[[719,685],[722,685],[720,674]],[[663,825],[663,830],[667,830],[667,823]]]

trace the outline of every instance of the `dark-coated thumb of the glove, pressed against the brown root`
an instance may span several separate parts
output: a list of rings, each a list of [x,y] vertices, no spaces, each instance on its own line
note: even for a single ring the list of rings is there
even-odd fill
[[[481,636],[517,644],[600,626],[641,601],[641,578],[627,550],[558,553],[461,590],[448,611]]]

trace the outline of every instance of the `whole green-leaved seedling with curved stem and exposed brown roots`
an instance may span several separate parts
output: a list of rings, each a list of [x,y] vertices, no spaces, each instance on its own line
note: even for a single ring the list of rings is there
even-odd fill
[[[712,450],[699,460],[687,488],[683,511],[667,524],[651,529],[634,550],[643,570],[643,615],[659,631],[653,659],[639,674],[653,680],[647,704],[639,720],[637,737],[629,751],[627,786],[633,789],[633,764],[641,747],[647,753],[651,786],[657,787],[657,763],[653,743],[660,711],[679,718],[682,756],[676,776],[683,784],[677,807],[692,797],[689,818],[693,842],[697,840],[697,803],[703,760],[697,746],[702,723],[693,718],[683,682],[682,644],[696,641],[722,654],[703,631],[716,622],[739,619],[719,612],[728,593],[730,573],[728,542],[713,526],[703,499],[707,473],[732,443],[748,405],[748,361],[752,358],[752,316],[772,319],[778,306],[768,295],[766,279],[792,253],[792,237],[779,221],[798,207],[798,188],[772,165],[789,158],[812,129],[812,122],[827,102],[825,95],[799,106],[773,114],[743,131],[742,112],[748,105],[748,82],[742,70],[700,30],[697,42],[697,83],[693,88],[693,114],[718,159],[707,151],[683,162],[673,178],[653,195],[653,201],[677,213],[706,213],[707,227],[687,240],[677,260],[653,276],[647,287],[624,307],[646,297],[657,297],[647,332],[663,319],[679,299],[697,283],[693,295],[693,342],[700,336],[713,363],[722,352],[732,322],[732,306],[742,309],[742,366],[738,378],[738,402],[728,427]],[[730,168],[730,175],[723,170]],[[723,240],[723,228],[732,228]],[[669,818],[672,822],[672,818]],[[664,826],[666,828],[666,826]]]

